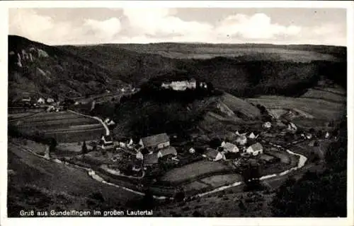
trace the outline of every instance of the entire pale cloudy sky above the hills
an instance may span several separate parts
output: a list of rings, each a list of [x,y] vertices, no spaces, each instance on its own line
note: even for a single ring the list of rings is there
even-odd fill
[[[45,44],[346,46],[345,8],[9,8],[9,35]]]

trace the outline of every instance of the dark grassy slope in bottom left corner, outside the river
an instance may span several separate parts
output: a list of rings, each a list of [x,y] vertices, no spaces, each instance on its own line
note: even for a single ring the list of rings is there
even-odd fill
[[[97,208],[118,208],[137,198],[130,192],[96,182],[82,169],[43,160],[11,144],[8,169],[15,172],[8,175],[8,214],[11,217],[27,208],[91,209],[90,196],[94,193],[101,193],[105,200],[104,203],[93,200]]]

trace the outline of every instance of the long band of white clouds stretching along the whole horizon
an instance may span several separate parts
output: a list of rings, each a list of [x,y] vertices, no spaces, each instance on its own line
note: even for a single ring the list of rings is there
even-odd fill
[[[172,8],[119,8],[104,19],[58,20],[38,9],[11,8],[10,34],[46,44],[96,44],[102,42],[212,42],[278,44],[346,44],[345,26],[282,25],[269,15],[232,14],[205,22],[183,20]],[[293,19],[293,18],[292,18]],[[217,20],[217,18],[216,18]]]

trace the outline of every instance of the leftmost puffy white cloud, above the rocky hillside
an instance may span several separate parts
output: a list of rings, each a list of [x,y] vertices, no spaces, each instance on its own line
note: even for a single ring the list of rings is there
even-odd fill
[[[9,21],[10,34],[45,44],[111,42],[121,28],[118,18],[86,19],[81,25],[74,25],[70,21],[55,21],[50,16],[42,16],[30,8],[11,8]]]

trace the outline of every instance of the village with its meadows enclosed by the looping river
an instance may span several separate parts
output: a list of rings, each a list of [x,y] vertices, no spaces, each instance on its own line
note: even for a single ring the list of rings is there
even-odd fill
[[[105,119],[104,123],[109,127],[115,124],[111,119]],[[130,187],[140,189],[144,185],[184,186],[185,182],[214,174],[243,175],[245,169],[257,169],[258,174],[254,177],[280,173],[296,166],[299,161],[295,155],[287,153],[286,148],[301,144],[314,150],[314,155],[321,156],[319,143],[336,138],[335,133],[329,131],[321,134],[299,131],[292,122],[265,121],[261,128],[258,131],[234,131],[232,138],[229,134],[227,138],[213,138],[202,145],[193,145],[193,141],[179,145],[178,137],[167,133],[123,139],[106,133],[98,141],[78,143],[81,150],[76,155],[52,157],[95,169],[96,174],[108,181],[119,183],[123,179],[132,182],[135,186]],[[203,165],[209,164],[207,162],[212,165],[204,169]],[[188,168],[190,165],[193,169]],[[171,176],[170,172],[177,173]],[[181,174],[183,176],[178,176]],[[190,194],[198,191],[195,187],[184,187]]]

